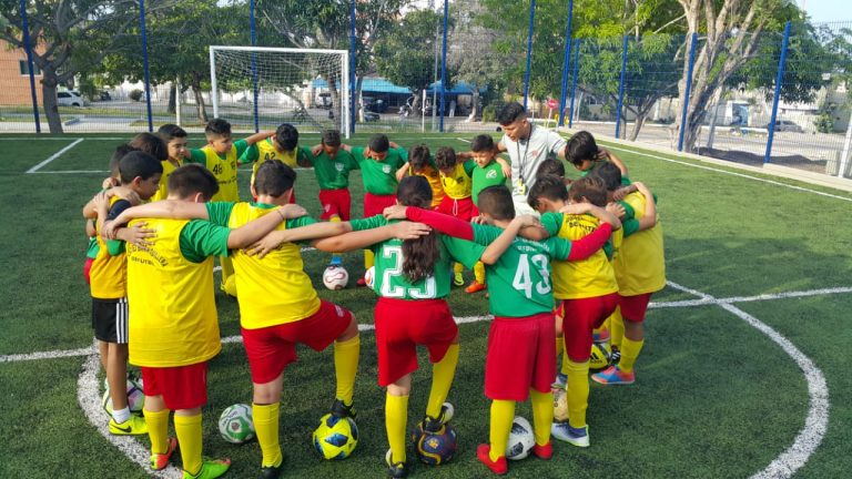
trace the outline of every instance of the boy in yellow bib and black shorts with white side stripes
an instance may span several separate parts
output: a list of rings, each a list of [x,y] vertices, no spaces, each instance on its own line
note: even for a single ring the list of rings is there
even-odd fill
[[[148,153],[131,152],[119,162],[122,187],[148,200],[156,192],[163,167]],[[98,217],[97,232],[103,223],[129,208],[131,203],[119,195],[100,193],[87,205]],[[85,214],[90,214],[91,210]],[[98,238],[98,255],[90,269],[92,294],[92,327],[105,366],[106,383],[112,399],[110,432],[113,435],[143,435],[148,430],[143,418],[132,416],[128,407],[128,285],[124,244]],[[124,238],[122,236],[122,238]]]

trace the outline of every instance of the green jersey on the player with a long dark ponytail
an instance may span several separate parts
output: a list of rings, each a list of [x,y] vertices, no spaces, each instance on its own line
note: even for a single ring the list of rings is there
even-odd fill
[[[353,220],[355,231],[384,226],[388,222],[382,215],[364,220]],[[485,251],[484,246],[465,240],[440,235],[440,257],[435,263],[432,276],[412,283],[403,274],[403,242],[387,240],[372,246],[375,254],[375,274],[373,289],[379,296],[395,299],[436,299],[449,295],[453,262],[459,262],[473,268]]]

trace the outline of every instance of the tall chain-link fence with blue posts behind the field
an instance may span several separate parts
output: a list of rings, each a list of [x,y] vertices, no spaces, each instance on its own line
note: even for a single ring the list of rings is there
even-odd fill
[[[22,11],[7,16],[18,35],[0,49],[0,132],[193,130],[216,102],[239,131],[344,128],[346,115],[353,131],[494,132],[500,106],[519,101],[551,128],[850,175],[852,23],[587,38],[571,33],[572,2],[112,1],[124,23],[103,31],[116,33],[78,42],[60,65],[36,4],[28,28]],[[214,99],[213,44],[345,53],[332,69],[246,53]]]

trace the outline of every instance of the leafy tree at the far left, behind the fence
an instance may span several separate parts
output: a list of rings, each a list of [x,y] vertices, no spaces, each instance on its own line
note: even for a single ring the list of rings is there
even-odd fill
[[[149,0],[156,11],[169,0]],[[124,35],[139,21],[136,0],[28,1],[29,35],[33,62],[42,71],[41,91],[44,116],[51,133],[62,133],[57,104],[57,86],[73,80],[81,71],[98,65],[106,55],[125,48]],[[20,3],[0,0],[0,39],[23,48]]]

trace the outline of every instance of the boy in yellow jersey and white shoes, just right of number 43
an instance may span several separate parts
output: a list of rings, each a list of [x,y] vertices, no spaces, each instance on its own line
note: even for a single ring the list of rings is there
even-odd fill
[[[601,222],[620,227],[618,217],[605,210],[607,191],[598,179],[577,180],[567,192],[560,177],[539,177],[529,190],[529,205],[541,213],[541,224],[550,236],[580,240]],[[586,409],[592,330],[616,309],[618,284],[602,249],[582,261],[554,262],[552,268],[554,298],[561,303],[564,315],[558,329],[564,334],[568,422],[555,422],[551,435],[577,447],[589,447]]]

